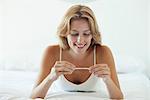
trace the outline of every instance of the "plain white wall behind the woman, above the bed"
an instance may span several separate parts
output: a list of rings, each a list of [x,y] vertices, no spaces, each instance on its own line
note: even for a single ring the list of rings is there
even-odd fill
[[[103,43],[109,45],[114,54],[131,55],[150,66],[148,2],[95,0],[85,4],[94,10]],[[37,67],[43,49],[57,43],[57,26],[70,6],[65,0],[1,0],[0,69],[16,65]]]

